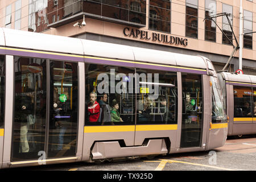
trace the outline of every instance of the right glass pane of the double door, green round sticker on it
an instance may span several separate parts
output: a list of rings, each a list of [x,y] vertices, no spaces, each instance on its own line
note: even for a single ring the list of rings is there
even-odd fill
[[[77,63],[50,61],[48,157],[76,155]]]

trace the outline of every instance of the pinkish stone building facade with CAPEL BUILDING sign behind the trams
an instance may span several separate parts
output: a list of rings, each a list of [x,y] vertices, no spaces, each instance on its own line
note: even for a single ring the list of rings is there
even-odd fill
[[[256,0],[242,7],[242,69],[256,75]],[[201,55],[220,71],[238,46],[239,10],[240,0],[1,0],[0,27]]]

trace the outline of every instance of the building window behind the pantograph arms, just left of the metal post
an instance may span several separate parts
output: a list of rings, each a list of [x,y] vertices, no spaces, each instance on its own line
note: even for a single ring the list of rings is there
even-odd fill
[[[231,25],[233,26],[233,7],[230,5],[222,4],[222,13],[228,13],[230,16],[228,16]],[[233,42],[233,34],[231,27],[228,22],[228,18],[226,16],[222,16],[222,31],[225,33],[222,34],[222,44],[229,44],[232,45]]]

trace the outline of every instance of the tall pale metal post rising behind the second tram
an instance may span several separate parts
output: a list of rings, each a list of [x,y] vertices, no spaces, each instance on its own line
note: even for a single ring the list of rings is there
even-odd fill
[[[243,50],[243,7],[242,0],[240,0],[240,11],[239,11],[239,67],[242,70],[242,50]]]

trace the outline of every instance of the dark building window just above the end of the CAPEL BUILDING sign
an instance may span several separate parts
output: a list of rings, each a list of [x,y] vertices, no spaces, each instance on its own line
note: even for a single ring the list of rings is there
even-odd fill
[[[198,35],[198,1],[186,1],[186,36],[197,38]]]

